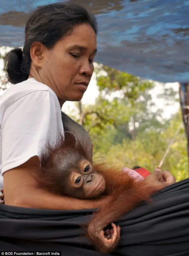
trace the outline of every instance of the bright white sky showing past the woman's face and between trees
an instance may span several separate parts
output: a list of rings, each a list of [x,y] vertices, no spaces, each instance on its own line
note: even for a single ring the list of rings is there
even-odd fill
[[[9,51],[10,48],[5,48],[5,47],[0,47],[0,54],[4,55],[5,51]],[[94,63],[95,65],[98,65],[97,63]],[[2,70],[4,66],[3,60],[0,60],[0,76],[4,75],[4,71]],[[179,109],[179,103],[173,103],[171,106],[166,106],[166,101],[164,99],[158,99],[157,95],[162,92],[163,87],[165,86],[166,88],[172,87],[174,91],[178,92],[179,85],[178,83],[159,83],[155,82],[155,88],[151,90],[151,95],[152,95],[152,100],[154,101],[156,107],[154,108],[154,111],[156,108],[159,108],[159,106],[166,111],[163,113],[164,118],[170,118],[170,116],[174,113],[176,113]],[[9,87],[9,86],[8,86]],[[0,95],[2,95],[3,91],[0,90]],[[87,104],[94,104],[95,99],[98,96],[99,91],[97,87],[97,82],[96,82],[96,76],[95,73],[92,76],[91,82],[89,83],[88,89],[85,92],[83,99],[82,99],[82,104],[87,105]],[[178,93],[177,93],[178,97]],[[75,102],[66,102],[64,103],[62,107],[62,111],[65,112],[66,114],[69,114],[70,111],[74,111],[75,114],[77,115],[78,111],[77,108],[75,107]]]

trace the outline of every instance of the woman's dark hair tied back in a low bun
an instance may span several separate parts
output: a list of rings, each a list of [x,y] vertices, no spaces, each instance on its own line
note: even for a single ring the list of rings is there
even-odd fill
[[[5,55],[8,81],[16,84],[28,79],[31,66],[30,48],[34,42],[41,42],[51,49],[63,36],[72,33],[75,25],[84,23],[91,25],[97,34],[94,15],[80,5],[55,3],[38,7],[26,23],[23,51],[16,48]]]

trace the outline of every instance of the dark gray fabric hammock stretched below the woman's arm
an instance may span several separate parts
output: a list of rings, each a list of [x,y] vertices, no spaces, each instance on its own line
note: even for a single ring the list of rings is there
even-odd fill
[[[189,179],[152,198],[153,204],[142,203],[117,222],[121,239],[113,255],[189,255]],[[87,223],[91,214],[92,210],[51,211],[0,205],[0,250],[102,255],[79,226]]]

